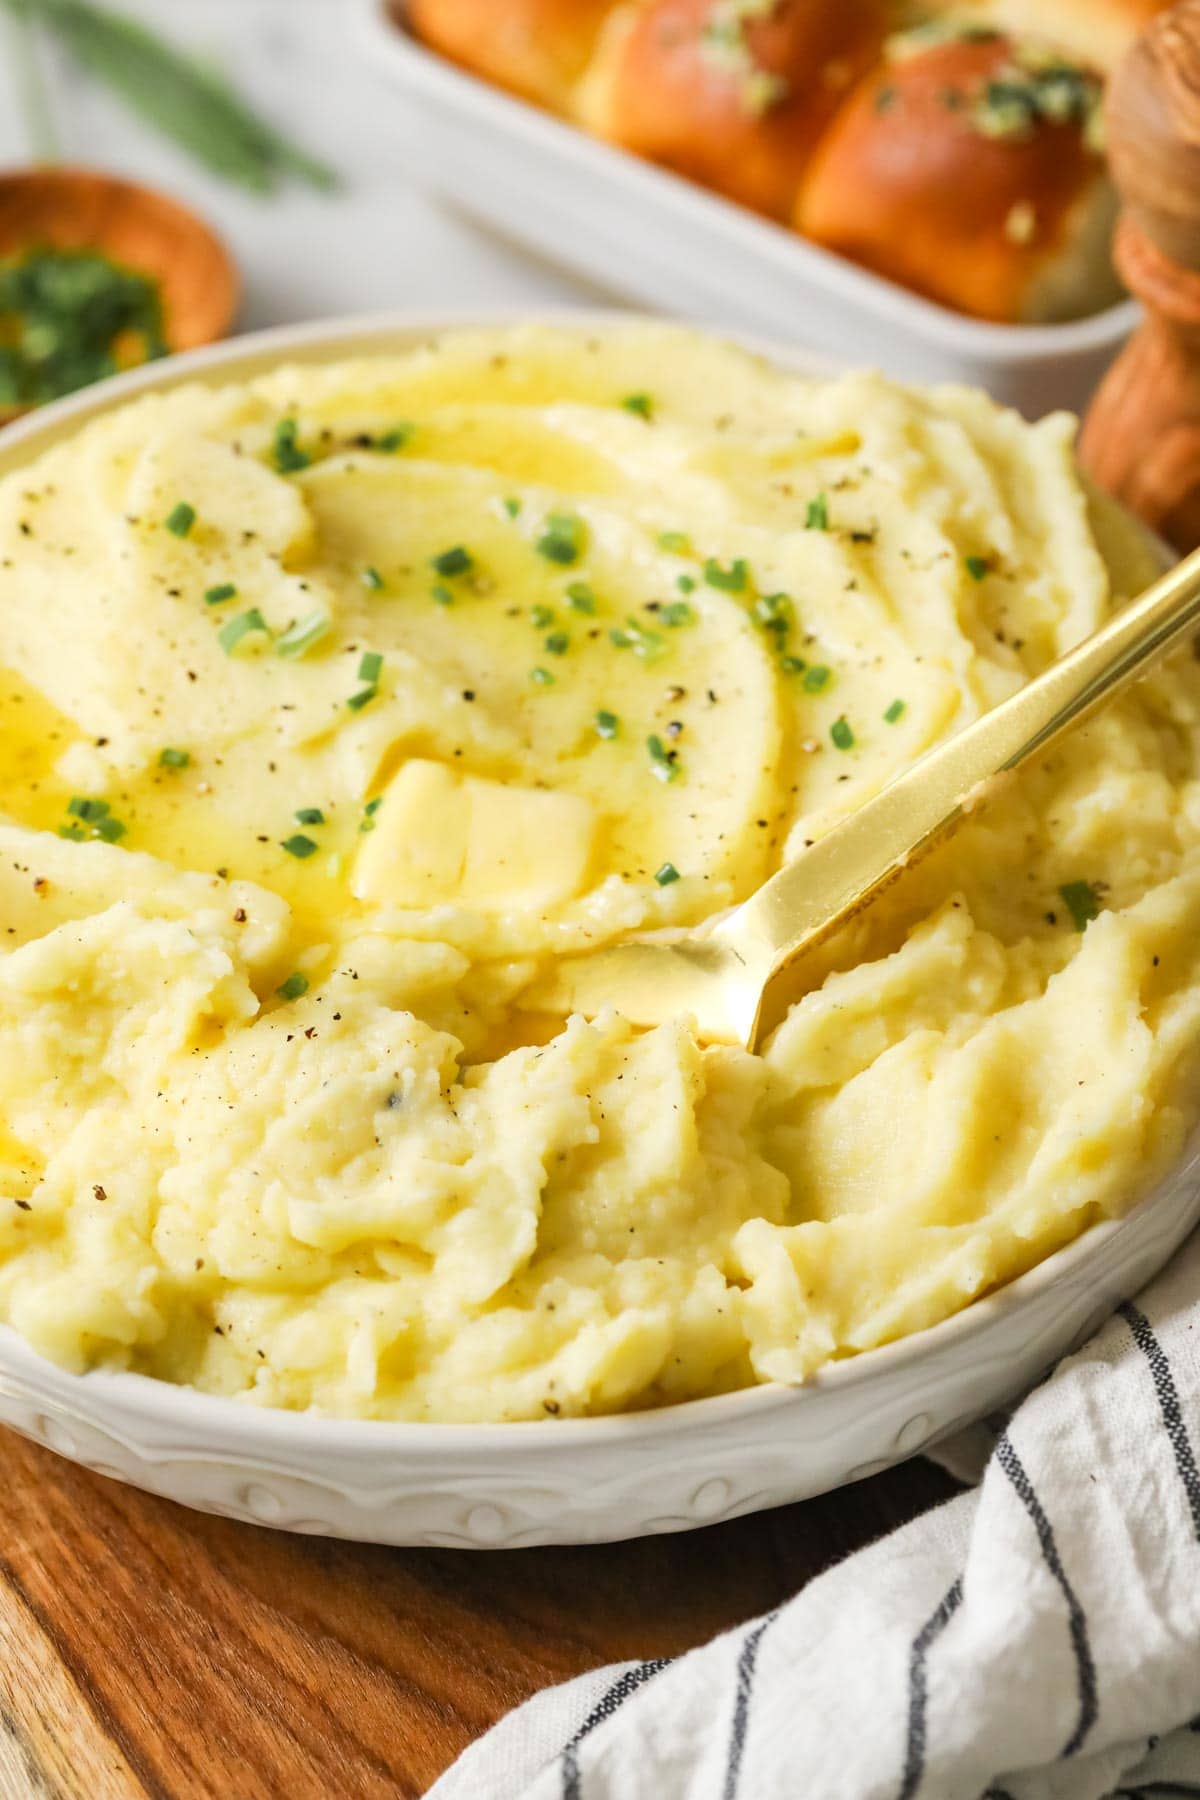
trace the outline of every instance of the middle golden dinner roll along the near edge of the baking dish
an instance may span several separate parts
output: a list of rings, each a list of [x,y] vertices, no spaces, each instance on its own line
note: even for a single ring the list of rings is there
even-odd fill
[[[626,4],[579,90],[581,117],[601,137],[783,220],[887,22],[885,0]]]

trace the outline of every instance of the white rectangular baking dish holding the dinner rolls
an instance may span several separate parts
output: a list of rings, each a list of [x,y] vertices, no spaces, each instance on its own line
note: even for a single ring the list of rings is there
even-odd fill
[[[477,81],[398,27],[389,0],[356,13],[432,185],[612,293],[901,380],[972,382],[1031,418],[1079,410],[1137,320],[1132,301],[1061,326],[964,319]]]

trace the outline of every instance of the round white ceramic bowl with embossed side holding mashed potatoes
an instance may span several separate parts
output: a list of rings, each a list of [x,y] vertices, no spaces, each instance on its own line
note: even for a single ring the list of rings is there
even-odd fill
[[[464,322],[308,326],[176,356],[4,432],[0,473],[148,389],[403,349]],[[567,313],[565,322],[612,320]],[[1094,1226],[952,1319],[831,1364],[802,1388],[748,1388],[655,1413],[513,1426],[320,1418],[144,1375],[70,1375],[0,1328],[0,1420],[115,1480],[293,1532],[462,1548],[680,1532],[874,1474],[1015,1399],[1148,1282],[1198,1217],[1200,1134],[1124,1219]]]

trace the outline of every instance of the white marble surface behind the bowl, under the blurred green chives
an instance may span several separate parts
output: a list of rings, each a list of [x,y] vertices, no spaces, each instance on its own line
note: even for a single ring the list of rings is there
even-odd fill
[[[333,164],[333,194],[245,194],[193,164],[58,56],[43,56],[65,160],[162,187],[225,236],[252,329],[383,308],[610,304],[455,216],[423,187],[421,144],[344,0],[112,0],[236,77],[273,122]],[[7,31],[7,27],[5,27]],[[0,166],[29,162],[13,38],[0,36]]]

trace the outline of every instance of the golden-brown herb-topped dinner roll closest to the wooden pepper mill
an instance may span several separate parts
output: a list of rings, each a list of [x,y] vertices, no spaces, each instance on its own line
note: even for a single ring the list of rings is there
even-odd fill
[[[1099,94],[1027,40],[894,40],[826,133],[795,223],[981,319],[1097,311],[1119,293]]]

